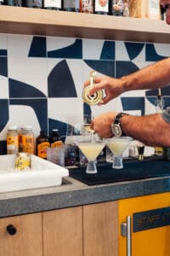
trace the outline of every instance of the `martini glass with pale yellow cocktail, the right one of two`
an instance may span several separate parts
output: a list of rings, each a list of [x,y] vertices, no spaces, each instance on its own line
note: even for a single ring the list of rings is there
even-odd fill
[[[106,139],[106,145],[111,149],[113,153],[113,165],[114,169],[122,169],[122,154],[129,145],[133,141],[132,137],[111,137]]]

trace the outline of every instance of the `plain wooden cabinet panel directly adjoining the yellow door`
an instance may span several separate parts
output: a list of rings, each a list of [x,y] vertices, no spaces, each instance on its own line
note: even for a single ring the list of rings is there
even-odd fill
[[[117,256],[117,202],[83,207],[83,256]]]

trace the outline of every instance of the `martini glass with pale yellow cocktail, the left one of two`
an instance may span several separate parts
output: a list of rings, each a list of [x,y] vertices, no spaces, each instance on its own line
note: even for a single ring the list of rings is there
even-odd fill
[[[82,151],[82,154],[84,154],[88,159],[86,173],[97,173],[95,160],[105,147],[105,142],[94,134],[94,132],[90,132],[88,135],[77,136],[76,143],[78,148]]]

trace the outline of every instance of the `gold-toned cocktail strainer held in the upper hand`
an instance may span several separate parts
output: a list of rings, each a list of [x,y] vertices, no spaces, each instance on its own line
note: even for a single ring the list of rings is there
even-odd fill
[[[97,105],[103,99],[103,91],[97,90],[93,95],[89,95],[89,91],[95,84],[95,71],[90,72],[90,84],[82,90],[82,99],[88,105]]]

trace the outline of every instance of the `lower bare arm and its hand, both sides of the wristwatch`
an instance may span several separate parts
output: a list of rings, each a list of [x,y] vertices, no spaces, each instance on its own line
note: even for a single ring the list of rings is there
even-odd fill
[[[91,128],[100,137],[112,137],[111,124],[116,118],[116,112],[103,113],[95,117]],[[170,123],[167,123],[161,113],[145,116],[123,115],[120,119],[122,131],[129,137],[150,146],[170,147]]]

